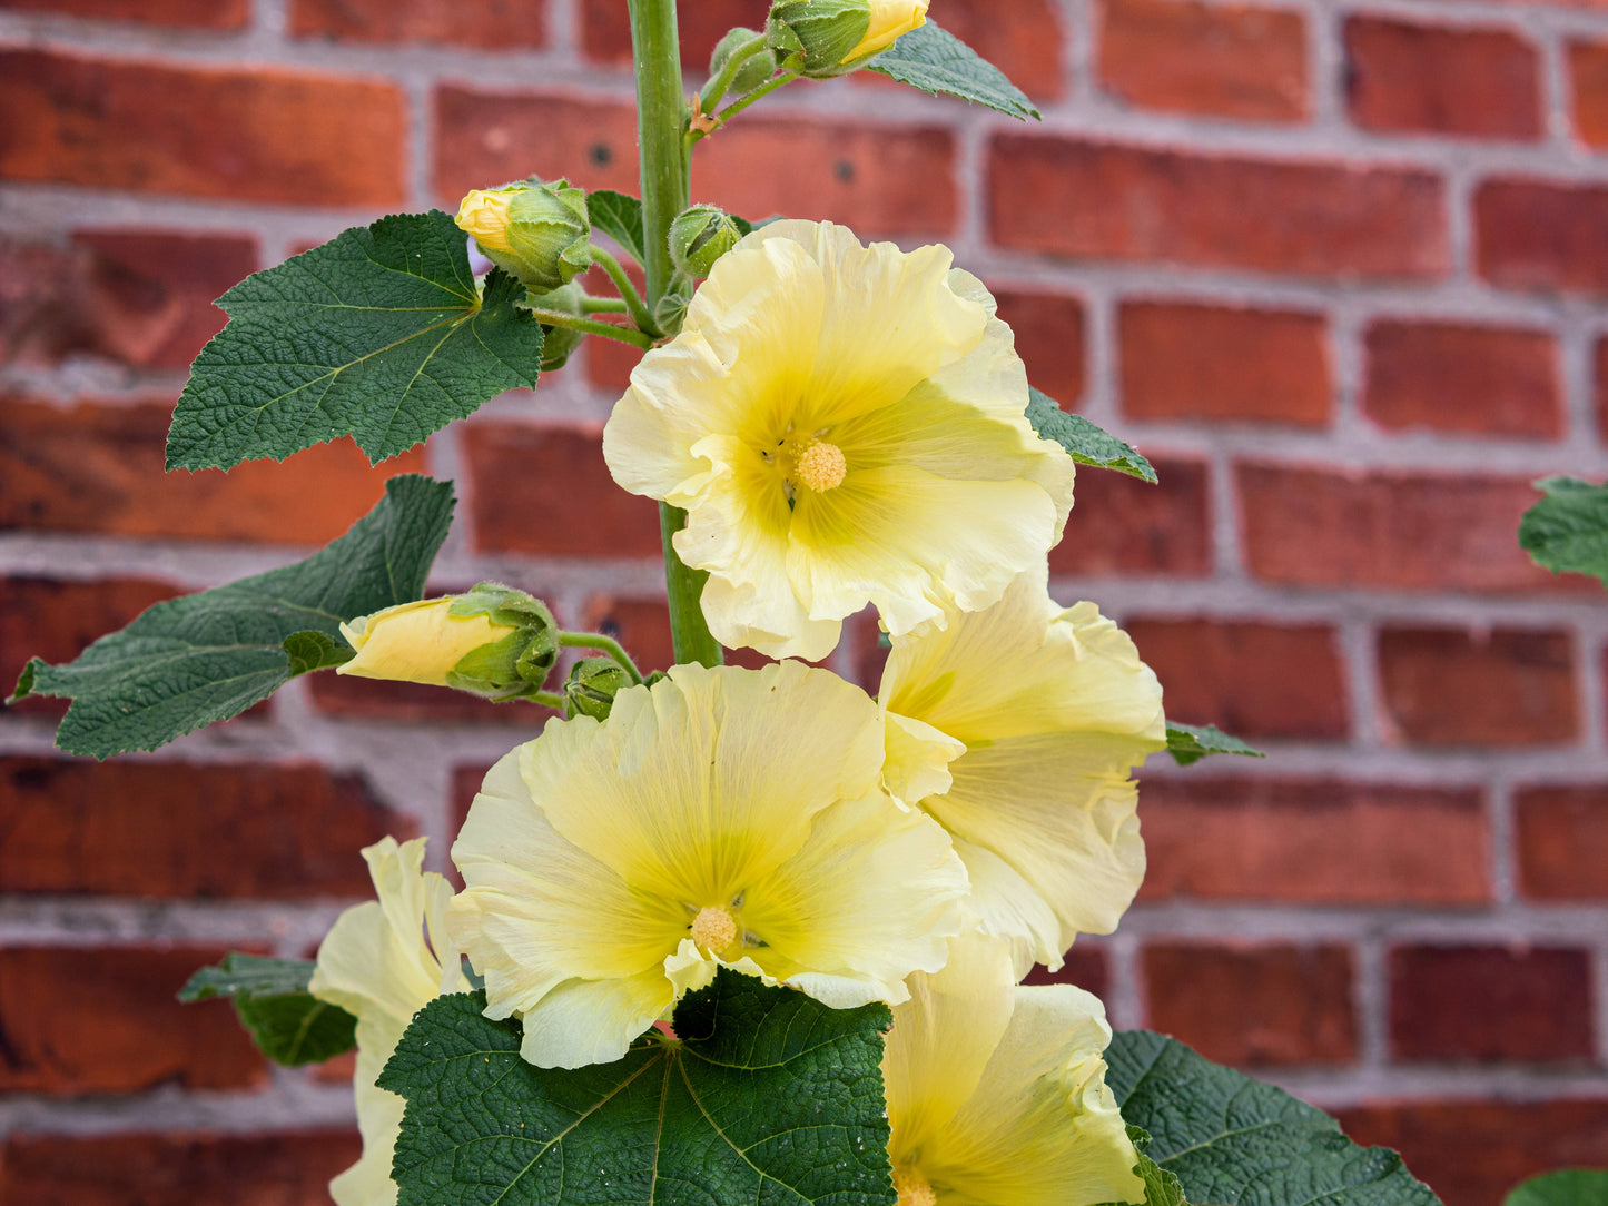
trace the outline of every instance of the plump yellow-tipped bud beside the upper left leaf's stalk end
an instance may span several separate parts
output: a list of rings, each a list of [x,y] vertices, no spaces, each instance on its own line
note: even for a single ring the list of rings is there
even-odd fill
[[[476,188],[458,206],[457,224],[486,259],[534,294],[568,285],[592,265],[587,195],[568,180]]]

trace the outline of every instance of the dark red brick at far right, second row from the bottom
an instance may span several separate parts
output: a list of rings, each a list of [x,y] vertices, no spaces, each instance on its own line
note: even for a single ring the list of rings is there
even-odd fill
[[[1592,1056],[1590,952],[1404,946],[1389,954],[1391,1053],[1407,1063]]]

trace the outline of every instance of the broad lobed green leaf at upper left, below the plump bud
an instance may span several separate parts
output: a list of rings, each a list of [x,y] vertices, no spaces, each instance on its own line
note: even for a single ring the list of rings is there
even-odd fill
[[[484,296],[453,220],[352,227],[219,297],[228,325],[190,370],[167,468],[228,468],[351,434],[396,457],[505,389],[534,386],[542,326],[502,270]]]

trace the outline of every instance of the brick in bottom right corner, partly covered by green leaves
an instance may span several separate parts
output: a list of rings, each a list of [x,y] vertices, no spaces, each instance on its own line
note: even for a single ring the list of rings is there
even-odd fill
[[[1502,1206],[1558,1167],[1608,1166],[1608,1098],[1384,1101],[1339,1111],[1356,1142],[1396,1148],[1442,1201]]]

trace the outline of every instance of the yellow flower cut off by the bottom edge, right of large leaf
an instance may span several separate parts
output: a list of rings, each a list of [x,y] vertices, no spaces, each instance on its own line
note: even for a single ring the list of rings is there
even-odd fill
[[[1019,987],[1007,944],[954,939],[942,971],[910,978],[883,1052],[897,1206],[1145,1201],[1110,1042],[1098,997]]]

